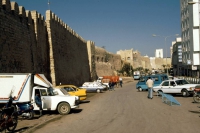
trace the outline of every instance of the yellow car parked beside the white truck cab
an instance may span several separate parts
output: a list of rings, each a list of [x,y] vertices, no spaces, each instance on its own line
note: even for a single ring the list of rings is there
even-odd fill
[[[71,96],[78,96],[80,98],[80,101],[86,100],[87,98],[86,89],[78,88],[75,85],[59,85],[55,88],[65,89]]]

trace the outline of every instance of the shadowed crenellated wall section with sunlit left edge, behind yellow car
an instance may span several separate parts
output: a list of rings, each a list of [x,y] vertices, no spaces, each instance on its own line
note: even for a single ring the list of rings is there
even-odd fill
[[[46,25],[52,83],[89,81],[87,42],[50,10],[46,11]]]

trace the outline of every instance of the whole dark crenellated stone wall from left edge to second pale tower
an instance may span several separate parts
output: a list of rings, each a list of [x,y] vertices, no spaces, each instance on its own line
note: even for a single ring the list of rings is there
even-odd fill
[[[0,0],[0,72],[44,73],[53,85],[90,81],[87,43],[54,13],[46,20]]]

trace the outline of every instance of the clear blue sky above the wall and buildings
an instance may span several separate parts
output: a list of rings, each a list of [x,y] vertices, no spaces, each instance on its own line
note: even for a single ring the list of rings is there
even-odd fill
[[[164,49],[165,57],[176,37],[165,45],[164,37],[152,34],[181,36],[180,0],[49,0],[50,6],[48,0],[11,1],[43,16],[50,8],[85,40],[111,53],[133,48],[153,57],[155,49]]]

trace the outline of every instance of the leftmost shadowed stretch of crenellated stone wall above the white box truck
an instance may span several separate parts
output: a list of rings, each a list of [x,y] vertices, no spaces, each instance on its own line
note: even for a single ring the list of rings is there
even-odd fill
[[[42,62],[42,56],[36,51],[31,12],[16,2],[0,0],[0,72],[41,72],[37,66]]]

